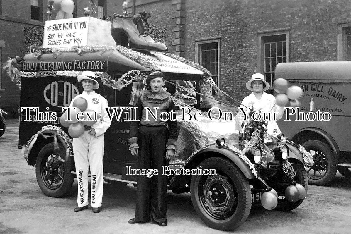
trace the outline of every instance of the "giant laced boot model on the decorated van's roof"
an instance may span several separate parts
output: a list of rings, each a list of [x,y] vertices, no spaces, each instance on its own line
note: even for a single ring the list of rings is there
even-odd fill
[[[148,34],[140,35],[137,25],[134,24],[132,18],[123,15],[113,15],[111,36],[117,45],[130,47],[131,49],[168,51],[164,43],[155,42]]]

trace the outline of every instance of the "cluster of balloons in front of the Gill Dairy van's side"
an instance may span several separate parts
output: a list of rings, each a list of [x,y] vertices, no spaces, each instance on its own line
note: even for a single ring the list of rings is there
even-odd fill
[[[283,78],[278,78],[274,81],[274,90],[279,94],[276,96],[278,106],[298,107],[301,103],[298,101],[303,95],[303,90],[292,85],[288,87],[288,83]]]

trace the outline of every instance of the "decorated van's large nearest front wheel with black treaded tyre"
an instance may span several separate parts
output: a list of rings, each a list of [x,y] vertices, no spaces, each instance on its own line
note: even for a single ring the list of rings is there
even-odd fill
[[[193,175],[191,200],[207,226],[232,231],[245,222],[251,210],[249,181],[239,168],[225,158],[208,158],[198,168],[215,169],[215,175]],[[207,173],[203,173],[207,174]]]

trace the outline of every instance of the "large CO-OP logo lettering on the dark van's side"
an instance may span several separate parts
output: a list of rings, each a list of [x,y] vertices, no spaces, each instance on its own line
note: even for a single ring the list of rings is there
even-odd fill
[[[54,81],[46,85],[43,94],[48,104],[67,107],[72,99],[78,95],[78,89],[68,81]]]

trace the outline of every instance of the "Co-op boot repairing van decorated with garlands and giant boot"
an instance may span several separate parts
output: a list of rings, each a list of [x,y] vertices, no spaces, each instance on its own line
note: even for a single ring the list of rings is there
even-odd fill
[[[85,44],[84,40],[80,44],[72,40],[65,41],[73,43],[69,47],[53,47],[52,40],[62,40],[62,44],[61,36],[72,36],[68,34],[71,29],[60,31],[60,24],[80,27],[84,25],[81,21],[87,22],[86,30],[79,34],[87,39]],[[90,27],[97,27],[94,22],[104,29],[99,29],[99,38],[104,41],[91,45],[89,38],[95,34]],[[54,28],[60,37],[47,36]],[[309,165],[310,155],[282,135],[265,134],[264,128],[258,127],[264,125],[263,121],[241,124],[240,115],[235,117],[235,106],[211,95],[214,82],[205,68],[168,53],[164,44],[150,40],[143,44],[141,37],[133,39],[128,32],[139,35],[137,26],[131,18],[117,14],[112,24],[90,17],[52,20],[46,22],[45,30],[51,42],[44,40],[43,48],[12,61],[13,68],[19,68],[12,78],[21,87],[19,147],[28,165],[35,166],[39,188],[45,195],[64,196],[75,178],[72,138],[59,117],[62,108],[82,91],[77,76],[86,70],[98,77],[100,88],[96,92],[107,99],[108,111],[115,109],[123,114],[112,118],[105,133],[104,179],[119,186],[137,186],[136,178],[127,173],[128,168],[135,168],[135,158],[128,150],[130,122],[123,116],[144,89],[143,78],[152,71],[162,71],[165,87],[179,108],[177,151],[167,173],[168,190],[190,192],[200,218],[220,230],[240,226],[258,201],[266,209],[280,211],[291,211],[302,204],[307,192],[304,166]],[[234,115],[228,119],[216,115],[209,118],[209,112],[204,112],[208,108],[201,106]],[[247,133],[239,134],[243,130]],[[202,173],[198,173],[200,169]]]

